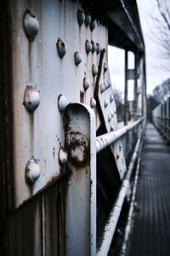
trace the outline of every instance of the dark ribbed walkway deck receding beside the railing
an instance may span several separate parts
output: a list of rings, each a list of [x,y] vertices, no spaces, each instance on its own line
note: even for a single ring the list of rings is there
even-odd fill
[[[170,255],[170,147],[155,127],[146,126],[128,256]]]

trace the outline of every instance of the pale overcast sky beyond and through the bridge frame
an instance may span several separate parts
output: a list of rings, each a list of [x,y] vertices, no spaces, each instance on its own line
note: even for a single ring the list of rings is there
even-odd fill
[[[159,55],[158,45],[151,39],[150,32],[154,30],[154,21],[151,18],[151,12],[156,12],[156,0],[137,0],[139,9],[139,18],[142,26],[145,53],[146,53],[146,79],[147,94],[151,94],[156,85],[161,84],[163,80],[170,77],[167,70],[160,68],[165,62]],[[111,72],[111,81],[118,90],[124,90],[124,50],[109,46],[109,67]],[[133,68],[133,54],[129,56],[130,66]],[[133,99],[133,84],[129,84],[128,99]]]

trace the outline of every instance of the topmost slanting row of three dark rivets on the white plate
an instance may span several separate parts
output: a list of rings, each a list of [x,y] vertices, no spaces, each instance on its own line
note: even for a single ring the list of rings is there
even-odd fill
[[[84,23],[85,26],[90,26],[90,30],[92,32],[94,31],[94,28],[96,27],[96,21],[92,20],[89,14],[85,15],[81,9],[77,10],[77,20],[80,26],[82,26],[82,24]]]

